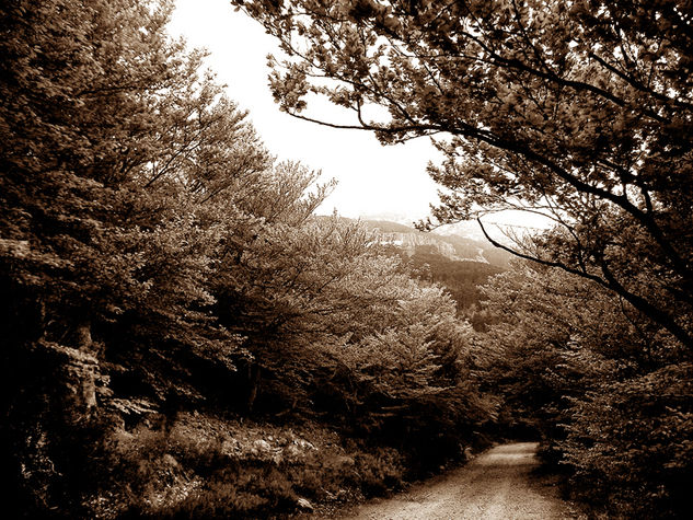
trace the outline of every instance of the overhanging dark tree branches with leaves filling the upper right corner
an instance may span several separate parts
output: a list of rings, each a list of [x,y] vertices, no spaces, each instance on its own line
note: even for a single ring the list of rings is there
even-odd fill
[[[555,230],[516,253],[617,292],[693,346],[689,2],[234,3],[281,42],[284,111],[383,143],[448,136],[429,167],[446,188],[431,226],[546,215]],[[305,115],[313,94],[355,123]]]

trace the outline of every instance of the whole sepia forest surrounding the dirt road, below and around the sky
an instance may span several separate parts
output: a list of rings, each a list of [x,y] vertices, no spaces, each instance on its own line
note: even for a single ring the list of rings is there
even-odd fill
[[[281,44],[277,109],[434,140],[421,230],[551,226],[487,234],[504,266],[409,258],[315,215],[334,184],[265,148],[173,2],[2,2],[7,518],[325,518],[506,439],[586,518],[688,518],[691,2],[229,9]]]

